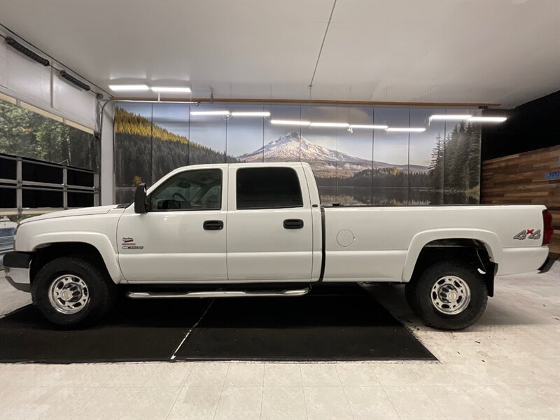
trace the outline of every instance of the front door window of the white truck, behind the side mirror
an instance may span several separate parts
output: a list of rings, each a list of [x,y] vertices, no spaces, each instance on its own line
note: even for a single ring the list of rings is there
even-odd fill
[[[152,211],[219,210],[222,207],[221,169],[176,174],[150,195]]]

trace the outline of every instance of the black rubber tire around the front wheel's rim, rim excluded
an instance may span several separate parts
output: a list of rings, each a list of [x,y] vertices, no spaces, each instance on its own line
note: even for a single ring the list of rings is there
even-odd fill
[[[76,313],[59,311],[49,299],[49,288],[60,276],[77,276],[87,286],[87,302]],[[56,258],[38,270],[31,283],[33,303],[50,322],[62,327],[90,325],[111,309],[116,300],[117,286],[104,269],[78,257]],[[78,305],[79,306],[79,305]]]

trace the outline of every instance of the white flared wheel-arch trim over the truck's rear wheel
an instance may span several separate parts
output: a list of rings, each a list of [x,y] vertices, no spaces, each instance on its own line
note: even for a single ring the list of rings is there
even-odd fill
[[[418,257],[427,244],[440,239],[477,239],[484,243],[492,262],[499,265],[502,258],[500,238],[494,232],[482,229],[434,229],[425,230],[414,235],[408,248],[405,267],[402,269],[402,281],[412,278]]]

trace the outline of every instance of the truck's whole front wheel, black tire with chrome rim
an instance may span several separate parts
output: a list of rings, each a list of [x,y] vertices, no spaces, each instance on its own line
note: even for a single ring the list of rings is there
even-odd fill
[[[116,297],[116,285],[90,261],[63,257],[38,270],[31,283],[31,297],[52,323],[83,326],[109,311]]]

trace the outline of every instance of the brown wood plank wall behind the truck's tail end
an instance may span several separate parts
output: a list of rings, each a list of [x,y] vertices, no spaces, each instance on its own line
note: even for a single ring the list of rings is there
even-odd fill
[[[550,252],[560,254],[560,146],[518,153],[482,162],[482,204],[544,204],[552,214],[554,235]]]

